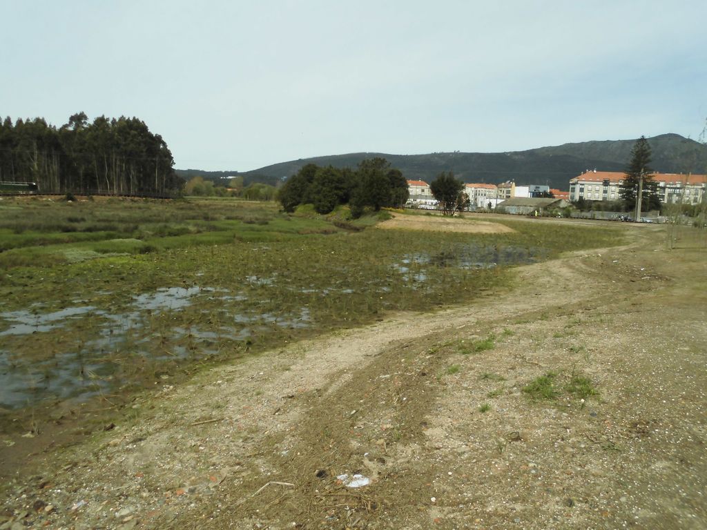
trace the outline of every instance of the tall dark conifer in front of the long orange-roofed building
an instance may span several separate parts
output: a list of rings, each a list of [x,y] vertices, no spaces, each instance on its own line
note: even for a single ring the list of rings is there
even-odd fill
[[[643,179],[641,211],[660,209],[658,182],[653,180],[653,170],[650,167],[650,145],[645,136],[641,136],[633,144],[631,160],[624,174],[624,182],[619,187],[619,197],[624,201],[626,211],[636,209],[636,199],[641,179]]]

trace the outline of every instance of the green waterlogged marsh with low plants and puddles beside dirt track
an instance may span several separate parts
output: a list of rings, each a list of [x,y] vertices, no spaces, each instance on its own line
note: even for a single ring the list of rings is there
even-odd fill
[[[310,213],[230,199],[1,201],[0,406],[113,403],[204,363],[505,290],[508,266],[619,241],[512,220],[501,234],[363,230],[378,214]]]

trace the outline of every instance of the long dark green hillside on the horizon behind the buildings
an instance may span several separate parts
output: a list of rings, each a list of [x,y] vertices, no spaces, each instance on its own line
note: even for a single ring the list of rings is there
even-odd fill
[[[518,184],[547,184],[568,189],[569,179],[588,169],[623,171],[629,163],[635,140],[588,141],[565,143],[508,153],[432,153],[429,155],[391,155],[387,153],[349,153],[315,158],[302,158],[258,170],[211,172],[209,175],[243,175],[248,181],[272,184],[286,179],[308,163],[356,167],[365,158],[382,156],[407,179],[430,182],[442,171],[452,171],[464,182],[498,184],[515,180]],[[707,146],[679,134],[662,134],[648,139],[653,151],[653,169],[658,172],[707,172]],[[189,170],[191,172],[196,170]],[[201,172],[201,174],[206,172]],[[181,177],[189,178],[182,170]],[[208,178],[205,176],[205,178]]]

